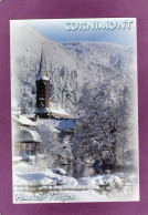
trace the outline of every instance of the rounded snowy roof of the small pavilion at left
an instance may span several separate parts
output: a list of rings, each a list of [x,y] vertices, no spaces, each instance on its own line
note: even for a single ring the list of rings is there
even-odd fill
[[[31,130],[20,130],[15,134],[15,141],[21,143],[32,143],[32,142],[41,142],[40,135],[35,131]]]

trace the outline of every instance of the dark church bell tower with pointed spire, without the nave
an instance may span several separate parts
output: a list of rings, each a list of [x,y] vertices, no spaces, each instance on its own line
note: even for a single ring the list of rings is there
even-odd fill
[[[35,114],[40,119],[50,117],[50,80],[46,73],[46,62],[43,50],[41,52],[40,68],[36,75],[36,109]]]

